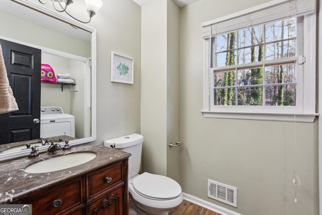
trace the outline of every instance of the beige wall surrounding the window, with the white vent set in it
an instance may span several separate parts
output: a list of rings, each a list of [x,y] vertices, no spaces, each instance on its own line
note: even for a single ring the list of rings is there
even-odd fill
[[[243,214],[318,214],[317,120],[204,118],[201,23],[268,1],[201,0],[181,9],[180,154],[183,191]],[[296,141],[294,139],[296,138]],[[293,168],[301,184],[289,185]],[[237,208],[207,197],[207,179],[238,189]]]

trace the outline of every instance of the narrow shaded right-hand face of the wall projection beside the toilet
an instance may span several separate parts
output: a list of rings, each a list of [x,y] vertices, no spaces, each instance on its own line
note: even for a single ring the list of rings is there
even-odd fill
[[[181,148],[169,148],[180,141],[180,8],[167,4],[167,176],[180,180]]]

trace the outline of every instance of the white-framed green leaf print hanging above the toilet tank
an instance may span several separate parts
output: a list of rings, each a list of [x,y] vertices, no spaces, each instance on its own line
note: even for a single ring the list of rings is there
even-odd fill
[[[111,82],[134,83],[133,58],[111,52]]]

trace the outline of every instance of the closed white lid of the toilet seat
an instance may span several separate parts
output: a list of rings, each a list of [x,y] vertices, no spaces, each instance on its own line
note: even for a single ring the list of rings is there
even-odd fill
[[[133,179],[133,188],[150,199],[174,199],[181,194],[181,186],[172,178],[147,172]]]

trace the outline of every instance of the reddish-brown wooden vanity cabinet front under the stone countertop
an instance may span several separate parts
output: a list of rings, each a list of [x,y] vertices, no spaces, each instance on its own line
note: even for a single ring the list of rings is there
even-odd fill
[[[33,214],[128,214],[128,159],[39,189],[12,203],[32,204]]]

